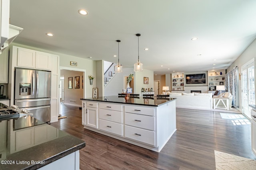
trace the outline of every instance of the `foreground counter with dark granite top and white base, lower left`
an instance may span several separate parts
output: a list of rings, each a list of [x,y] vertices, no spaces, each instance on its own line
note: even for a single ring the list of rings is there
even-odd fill
[[[85,142],[30,115],[0,121],[0,170],[79,170]]]

